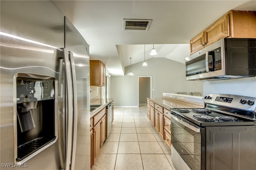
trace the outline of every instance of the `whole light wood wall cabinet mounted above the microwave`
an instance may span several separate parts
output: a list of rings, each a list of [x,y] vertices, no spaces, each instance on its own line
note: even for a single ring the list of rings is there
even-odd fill
[[[231,10],[190,40],[190,54],[222,38],[256,38],[256,11]]]

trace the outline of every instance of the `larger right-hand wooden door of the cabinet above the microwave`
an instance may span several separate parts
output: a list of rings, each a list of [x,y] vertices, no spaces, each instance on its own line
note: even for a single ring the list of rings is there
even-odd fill
[[[205,29],[205,43],[206,45],[210,45],[229,35],[229,14],[227,14]]]

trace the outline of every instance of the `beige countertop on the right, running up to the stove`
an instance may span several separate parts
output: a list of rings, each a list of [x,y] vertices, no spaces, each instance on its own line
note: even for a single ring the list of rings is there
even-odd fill
[[[152,102],[170,110],[173,108],[204,108],[204,104],[197,103],[197,102],[191,102],[187,100],[180,100],[180,99],[174,99],[174,98],[168,98],[163,96],[162,98],[148,98],[148,100],[151,100]]]

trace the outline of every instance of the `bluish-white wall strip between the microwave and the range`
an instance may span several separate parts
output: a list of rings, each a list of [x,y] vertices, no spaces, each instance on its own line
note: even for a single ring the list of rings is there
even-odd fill
[[[207,94],[234,94],[256,98],[256,78],[204,82],[204,96]]]

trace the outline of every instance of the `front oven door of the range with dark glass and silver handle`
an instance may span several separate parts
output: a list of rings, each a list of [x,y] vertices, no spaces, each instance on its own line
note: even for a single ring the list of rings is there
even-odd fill
[[[204,134],[204,128],[171,114],[172,146],[192,170],[205,167],[205,144],[201,133]],[[175,165],[180,162],[173,163]]]

